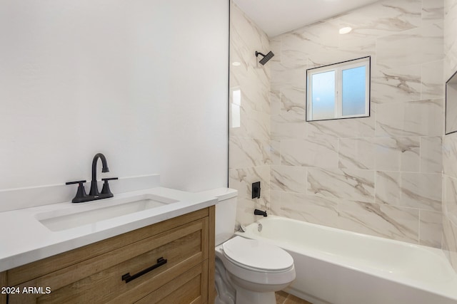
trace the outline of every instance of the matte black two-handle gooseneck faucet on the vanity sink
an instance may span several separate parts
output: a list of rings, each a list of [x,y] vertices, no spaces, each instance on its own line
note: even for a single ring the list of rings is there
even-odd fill
[[[91,182],[91,191],[89,195],[86,194],[86,189],[84,189],[84,181],[77,181],[77,182],[66,182],[66,184],[79,184],[78,190],[76,192],[76,196],[74,199],[71,200],[73,203],[82,203],[84,201],[94,201],[96,199],[107,199],[109,197],[113,197],[114,194],[111,193],[109,189],[108,181],[112,179],[117,179],[117,177],[111,177],[109,179],[101,179],[104,181],[103,188],[101,192],[99,192],[99,185],[97,184],[97,162],[101,159],[101,172],[109,172],[108,163],[106,162],[106,157],[104,154],[97,153],[92,159],[92,182]]]

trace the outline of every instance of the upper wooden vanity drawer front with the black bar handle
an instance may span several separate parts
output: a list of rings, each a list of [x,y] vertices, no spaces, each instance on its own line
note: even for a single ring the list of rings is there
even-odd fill
[[[208,258],[208,226],[208,218],[199,219],[28,281],[19,287],[50,287],[51,293],[10,295],[9,303],[134,303]],[[159,258],[166,263],[123,281]]]

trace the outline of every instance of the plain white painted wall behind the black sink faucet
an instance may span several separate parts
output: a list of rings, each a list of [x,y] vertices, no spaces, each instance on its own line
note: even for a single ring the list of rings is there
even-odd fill
[[[226,186],[228,1],[4,0],[0,41],[0,189],[89,180],[96,152]]]

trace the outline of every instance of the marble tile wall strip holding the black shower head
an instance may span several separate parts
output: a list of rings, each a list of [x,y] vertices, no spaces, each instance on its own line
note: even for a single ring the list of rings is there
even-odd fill
[[[270,204],[271,71],[270,63],[257,63],[256,51],[270,51],[268,37],[231,1],[229,187],[238,189],[241,224],[253,222],[253,210]],[[251,199],[251,184],[258,181],[261,198]]]

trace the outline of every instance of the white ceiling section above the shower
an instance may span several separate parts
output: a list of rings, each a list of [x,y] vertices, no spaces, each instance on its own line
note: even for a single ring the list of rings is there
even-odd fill
[[[233,0],[273,37],[301,26],[328,19],[378,0]]]

